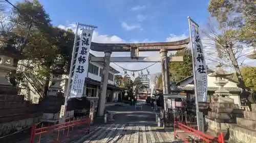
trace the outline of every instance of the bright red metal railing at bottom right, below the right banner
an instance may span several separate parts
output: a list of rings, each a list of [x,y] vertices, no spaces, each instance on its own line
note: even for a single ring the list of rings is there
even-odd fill
[[[174,121],[174,137],[175,139],[180,138],[187,143],[189,142],[224,143],[225,142],[223,133],[218,135],[218,138],[215,138],[176,121]]]

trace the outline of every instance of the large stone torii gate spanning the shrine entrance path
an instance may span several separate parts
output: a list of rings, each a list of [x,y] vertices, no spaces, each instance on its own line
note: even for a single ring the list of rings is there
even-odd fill
[[[174,42],[156,42],[156,43],[114,43],[114,44],[104,44],[104,43],[91,43],[91,50],[104,52],[103,57],[91,57],[91,62],[103,62],[103,75],[101,77],[100,85],[100,96],[98,101],[98,116],[103,116],[105,98],[106,98],[106,88],[108,85],[108,76],[110,69],[110,62],[161,62],[162,67],[162,84],[163,93],[170,93],[169,86],[169,70],[168,62],[183,62],[183,56],[174,56],[168,58],[168,51],[181,50],[187,47],[190,39],[184,39]],[[160,58],[139,56],[139,51],[159,51]],[[112,52],[131,52],[131,56],[127,57],[111,57]]]

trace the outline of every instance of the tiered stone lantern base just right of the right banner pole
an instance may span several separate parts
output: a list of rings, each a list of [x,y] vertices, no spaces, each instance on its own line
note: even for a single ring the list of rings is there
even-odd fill
[[[232,98],[214,97],[214,101],[210,104],[208,116],[206,116],[206,124],[208,130],[215,133],[227,133],[226,123],[237,123],[237,118],[243,118],[243,109],[239,109],[238,104],[234,104]]]

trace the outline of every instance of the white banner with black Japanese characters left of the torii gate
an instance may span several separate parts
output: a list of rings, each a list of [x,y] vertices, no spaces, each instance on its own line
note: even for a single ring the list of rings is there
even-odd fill
[[[88,76],[89,66],[89,53],[91,48],[91,41],[93,36],[94,28],[87,27],[82,29],[82,33],[79,36],[79,43],[76,62],[74,65],[74,71],[71,82],[71,92],[69,98],[81,98],[83,95],[84,82]]]

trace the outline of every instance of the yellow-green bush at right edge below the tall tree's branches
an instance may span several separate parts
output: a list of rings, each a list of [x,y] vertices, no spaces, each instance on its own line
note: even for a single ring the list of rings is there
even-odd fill
[[[256,91],[256,67],[242,67],[241,72],[246,87]]]

